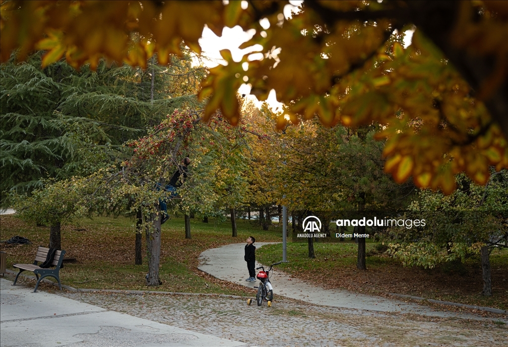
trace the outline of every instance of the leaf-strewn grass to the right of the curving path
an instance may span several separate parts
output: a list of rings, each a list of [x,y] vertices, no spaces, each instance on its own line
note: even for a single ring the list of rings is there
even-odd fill
[[[464,264],[447,263],[434,269],[405,268],[383,253],[375,243],[367,243],[367,271],[356,268],[358,245],[355,243],[314,243],[315,259],[308,258],[307,243],[288,243],[287,264],[278,268],[325,288],[341,288],[365,294],[397,293],[427,299],[459,302],[508,309],[508,249],[496,248],[490,255],[494,295],[483,290],[480,257]],[[266,245],[257,251],[258,261],[270,264],[282,253],[281,244]],[[369,256],[370,255],[370,256]]]

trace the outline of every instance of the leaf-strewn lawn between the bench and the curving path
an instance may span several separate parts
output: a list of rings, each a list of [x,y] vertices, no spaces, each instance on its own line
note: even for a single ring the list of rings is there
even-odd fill
[[[65,263],[60,270],[60,279],[64,285],[74,288],[251,294],[243,286],[217,280],[198,270],[198,257],[205,249],[244,242],[251,234],[255,234],[260,242],[281,241],[280,228],[262,231],[248,220],[238,219],[238,237],[232,237],[229,222],[216,224],[209,218],[209,223],[202,223],[196,218],[190,223],[192,239],[184,238],[183,218],[172,218],[163,225],[160,268],[163,285],[147,288],[147,260],[143,259],[143,265],[134,265],[136,220],[125,217],[80,219],[74,225],[62,227],[61,244],[67,252],[66,258],[76,258],[78,262]],[[17,272],[13,264],[33,263],[37,247],[47,247],[49,227],[29,226],[13,215],[2,215],[0,239],[7,240],[15,235],[32,242],[25,245],[1,244],[0,249],[7,253],[7,267]],[[145,256],[144,235],[142,239]],[[49,279],[52,280],[52,277]]]

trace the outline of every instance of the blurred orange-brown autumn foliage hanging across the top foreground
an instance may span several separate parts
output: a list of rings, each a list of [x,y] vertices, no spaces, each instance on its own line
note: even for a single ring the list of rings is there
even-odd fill
[[[242,5],[243,4],[243,5]],[[245,7],[245,4],[247,6]],[[285,1],[3,1],[0,59],[46,50],[43,66],[64,54],[70,65],[100,58],[145,68],[200,52],[209,27],[255,29],[254,52],[210,70],[201,84],[204,119],[217,109],[240,118],[236,92],[258,98],[275,89],[288,106],[276,124],[319,116],[322,123],[381,124],[385,171],[397,182],[450,194],[464,171],[486,184],[489,166],[508,167],[508,4],[495,1],[316,1],[284,18]],[[416,29],[415,29],[416,28]],[[401,45],[415,29],[412,44]]]

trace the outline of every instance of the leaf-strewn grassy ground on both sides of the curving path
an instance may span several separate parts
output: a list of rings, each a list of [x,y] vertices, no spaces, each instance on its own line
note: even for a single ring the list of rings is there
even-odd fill
[[[257,242],[281,241],[280,228],[261,231],[248,221],[238,221],[238,237],[231,236],[228,222],[216,224],[192,220],[192,239],[184,238],[183,218],[173,218],[163,226],[161,268],[163,285],[148,288],[157,291],[221,293],[250,295],[245,287],[218,280],[197,269],[199,254],[208,248],[243,242],[255,235]],[[134,265],[135,220],[124,217],[83,219],[62,228],[62,248],[66,263],[60,277],[63,284],[75,288],[147,290],[144,265]],[[0,239],[15,235],[27,237],[29,245],[7,245],[0,249],[7,253],[7,266],[31,263],[38,245],[47,246],[49,227],[31,227],[12,215],[0,217]],[[145,244],[143,235],[143,247]],[[367,244],[367,271],[356,269],[355,244],[315,244],[315,259],[307,257],[306,243],[289,243],[289,264],[280,266],[294,276],[312,280],[325,288],[345,288],[365,294],[407,294],[424,298],[447,300],[471,305],[508,309],[508,249],[497,249],[491,255],[494,296],[486,298],[482,291],[482,271],[478,259],[465,264],[447,264],[435,269],[404,268],[399,262],[383,254],[375,254],[373,244]],[[144,251],[144,250],[143,250]],[[370,251],[370,252],[369,252]],[[263,246],[257,250],[260,262],[269,263],[281,258],[281,245]],[[143,253],[144,255],[144,253]],[[453,309],[447,306],[447,309]],[[457,308],[459,309],[459,308]]]

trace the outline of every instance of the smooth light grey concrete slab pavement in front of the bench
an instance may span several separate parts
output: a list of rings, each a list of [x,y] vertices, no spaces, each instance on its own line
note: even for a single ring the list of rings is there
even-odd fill
[[[53,346],[246,346],[33,288],[0,278],[0,345]]]

